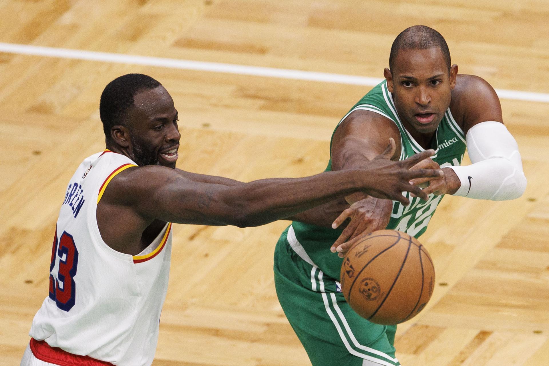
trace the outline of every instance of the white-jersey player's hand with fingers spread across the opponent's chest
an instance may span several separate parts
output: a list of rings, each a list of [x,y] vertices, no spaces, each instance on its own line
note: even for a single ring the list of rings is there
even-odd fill
[[[440,178],[444,176],[444,172],[440,167],[436,169],[413,168],[419,162],[433,156],[435,150],[425,150],[422,153],[408,157],[406,160],[391,161],[390,159],[394,153],[395,140],[390,138],[389,145],[383,154],[376,156],[365,166],[368,174],[365,179],[368,184],[363,192],[369,196],[399,201],[404,206],[410,204],[410,200],[402,195],[402,192],[405,191],[427,200],[427,194],[410,182],[417,178]]]

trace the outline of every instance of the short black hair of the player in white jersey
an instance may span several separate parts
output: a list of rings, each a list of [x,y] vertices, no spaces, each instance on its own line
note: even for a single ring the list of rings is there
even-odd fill
[[[113,126],[124,125],[126,111],[133,106],[133,97],[144,89],[154,89],[161,84],[143,74],[126,74],[107,84],[99,101],[99,117],[103,122],[105,137],[110,138]]]

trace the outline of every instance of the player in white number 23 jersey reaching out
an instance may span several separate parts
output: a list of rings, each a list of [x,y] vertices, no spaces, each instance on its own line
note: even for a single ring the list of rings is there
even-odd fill
[[[150,365],[170,268],[172,222],[257,226],[353,192],[427,195],[410,179],[440,177],[391,162],[394,141],[361,167],[298,179],[241,183],[175,169],[177,110],[153,78],[128,74],[105,87],[107,149],[72,176],[59,212],[49,295],[33,319],[21,365]],[[296,216],[299,218],[299,215]]]

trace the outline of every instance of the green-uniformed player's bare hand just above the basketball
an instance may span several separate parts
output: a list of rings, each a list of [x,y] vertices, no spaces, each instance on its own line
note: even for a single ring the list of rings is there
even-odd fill
[[[341,212],[341,215],[332,224],[332,228],[335,229],[346,219],[351,219],[330,250],[333,253],[338,252],[339,257],[343,258],[350,249],[349,240],[359,235],[363,237],[373,231],[385,229],[389,224],[391,211],[393,211],[393,201],[390,200],[368,197],[355,202],[351,207]]]

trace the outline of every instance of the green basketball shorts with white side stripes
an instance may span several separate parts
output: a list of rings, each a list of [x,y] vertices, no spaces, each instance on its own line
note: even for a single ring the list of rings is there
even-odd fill
[[[339,282],[324,275],[310,258],[296,254],[287,231],[275,249],[276,292],[312,365],[400,365],[393,346],[396,325],[374,324],[358,316],[341,294]]]

